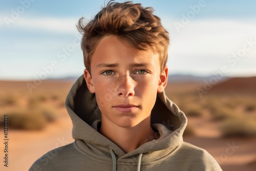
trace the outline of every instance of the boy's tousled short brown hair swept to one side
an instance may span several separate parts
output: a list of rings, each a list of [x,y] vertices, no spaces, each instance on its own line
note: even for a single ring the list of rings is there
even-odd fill
[[[83,17],[77,28],[83,34],[81,48],[84,66],[90,71],[91,56],[99,41],[106,35],[116,35],[130,42],[139,50],[151,49],[159,54],[160,68],[163,71],[168,56],[169,36],[161,19],[153,14],[153,8],[143,8],[133,2],[116,3],[110,1],[87,25]]]

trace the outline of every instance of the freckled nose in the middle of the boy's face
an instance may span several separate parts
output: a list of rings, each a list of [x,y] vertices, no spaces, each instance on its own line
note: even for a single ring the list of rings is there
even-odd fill
[[[135,81],[131,78],[130,75],[126,74],[121,76],[119,83],[120,83],[119,88],[117,90],[118,96],[123,96],[123,97],[134,96]]]

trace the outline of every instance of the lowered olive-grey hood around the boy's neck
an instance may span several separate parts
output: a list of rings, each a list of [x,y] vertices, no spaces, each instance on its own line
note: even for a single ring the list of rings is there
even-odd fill
[[[72,136],[77,146],[97,158],[111,158],[114,152],[118,162],[143,154],[143,161],[155,161],[175,151],[183,142],[182,135],[187,119],[178,106],[170,101],[165,93],[158,93],[151,114],[151,123],[160,138],[142,144],[134,151],[125,154],[115,143],[101,135],[95,122],[101,119],[95,94],[89,92],[83,75],[74,83],[66,99],[66,108],[72,119]],[[111,150],[110,150],[111,149]]]

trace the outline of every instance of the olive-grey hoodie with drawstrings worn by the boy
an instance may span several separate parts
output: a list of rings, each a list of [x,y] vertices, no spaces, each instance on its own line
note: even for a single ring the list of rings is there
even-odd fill
[[[75,141],[43,155],[30,171],[222,170],[204,149],[183,141],[187,118],[164,92],[158,93],[151,113],[151,124],[159,138],[129,153],[98,132],[101,113],[95,94],[89,92],[83,76],[71,88],[66,108],[72,119]]]

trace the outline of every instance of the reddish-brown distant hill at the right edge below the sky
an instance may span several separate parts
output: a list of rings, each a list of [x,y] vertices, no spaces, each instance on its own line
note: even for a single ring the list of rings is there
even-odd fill
[[[230,78],[213,86],[210,90],[219,93],[256,93],[256,77]]]

